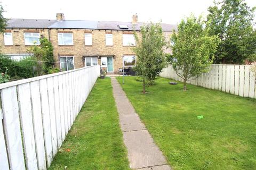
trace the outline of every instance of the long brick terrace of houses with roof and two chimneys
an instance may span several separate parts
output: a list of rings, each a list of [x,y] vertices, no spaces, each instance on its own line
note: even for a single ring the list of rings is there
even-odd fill
[[[118,73],[123,63],[135,66],[133,30],[139,32],[143,24],[137,14],[132,22],[65,20],[62,13],[57,20],[9,19],[0,36],[0,53],[19,60],[29,55],[29,46],[39,46],[39,38],[46,37],[61,71],[99,64],[108,74]],[[162,23],[162,28],[170,37],[177,25]]]

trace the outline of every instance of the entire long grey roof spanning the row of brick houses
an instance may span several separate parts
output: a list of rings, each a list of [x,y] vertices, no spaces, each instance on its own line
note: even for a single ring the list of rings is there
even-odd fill
[[[69,29],[103,29],[103,30],[135,30],[139,31],[141,25],[138,22],[119,21],[79,21],[79,20],[34,20],[34,19],[9,19],[6,28],[69,28]],[[120,29],[118,25],[127,25],[128,29]],[[177,25],[162,23],[163,31],[177,30]]]

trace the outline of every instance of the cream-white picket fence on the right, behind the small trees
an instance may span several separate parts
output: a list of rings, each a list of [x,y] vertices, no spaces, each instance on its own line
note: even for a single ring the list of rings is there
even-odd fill
[[[183,81],[172,66],[162,70],[161,77]],[[250,71],[250,65],[213,64],[208,73],[201,74],[189,84],[216,89],[242,97],[256,98],[255,76]]]

